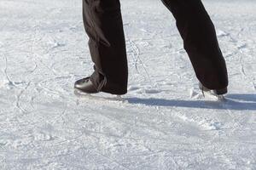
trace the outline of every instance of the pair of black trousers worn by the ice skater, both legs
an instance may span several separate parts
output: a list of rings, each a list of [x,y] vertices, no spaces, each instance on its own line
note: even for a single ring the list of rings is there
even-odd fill
[[[201,0],[161,1],[177,20],[177,29],[196,77],[207,88],[226,88],[228,76],[224,57]],[[84,28],[95,63],[90,80],[99,91],[125,94],[128,67],[119,0],[83,0],[83,9]]]

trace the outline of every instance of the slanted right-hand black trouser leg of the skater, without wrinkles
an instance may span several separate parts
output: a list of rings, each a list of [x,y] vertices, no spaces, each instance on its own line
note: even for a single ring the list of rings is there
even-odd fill
[[[215,28],[201,0],[161,0],[172,12],[196,77],[209,89],[228,86],[224,57]]]

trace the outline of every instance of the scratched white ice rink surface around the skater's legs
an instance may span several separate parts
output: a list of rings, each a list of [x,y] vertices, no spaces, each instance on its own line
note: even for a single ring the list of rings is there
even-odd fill
[[[160,1],[121,3],[130,78],[119,101],[73,94],[92,72],[80,1],[0,1],[0,169],[256,169],[256,2],[204,1],[225,102],[201,95]]]

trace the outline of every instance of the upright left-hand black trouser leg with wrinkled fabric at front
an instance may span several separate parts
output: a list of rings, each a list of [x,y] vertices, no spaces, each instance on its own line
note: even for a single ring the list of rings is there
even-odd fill
[[[127,92],[128,67],[119,0],[83,0],[84,29],[89,37],[98,91]]]

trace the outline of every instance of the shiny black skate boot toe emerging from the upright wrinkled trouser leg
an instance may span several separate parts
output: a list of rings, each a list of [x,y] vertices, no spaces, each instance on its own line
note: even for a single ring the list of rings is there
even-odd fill
[[[96,94],[99,93],[95,85],[90,81],[90,77],[82,78],[74,83],[74,88],[84,92],[86,94]]]

